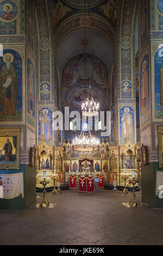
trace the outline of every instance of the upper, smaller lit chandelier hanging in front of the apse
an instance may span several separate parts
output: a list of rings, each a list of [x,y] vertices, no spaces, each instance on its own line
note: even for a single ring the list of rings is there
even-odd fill
[[[91,100],[87,98],[82,105],[82,113],[85,117],[95,117],[99,113],[99,103],[96,103],[93,97]]]

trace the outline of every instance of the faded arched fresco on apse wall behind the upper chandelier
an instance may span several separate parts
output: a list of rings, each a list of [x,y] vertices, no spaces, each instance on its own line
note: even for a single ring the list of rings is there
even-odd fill
[[[107,87],[104,63],[96,56],[79,54],[67,63],[62,74],[62,106],[80,111],[87,97],[93,97],[104,109]]]

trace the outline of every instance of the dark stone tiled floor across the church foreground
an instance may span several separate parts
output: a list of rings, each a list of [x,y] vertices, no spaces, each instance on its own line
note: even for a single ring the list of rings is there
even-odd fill
[[[0,245],[163,245],[163,209],[126,208],[131,196],[47,193],[49,203],[57,203],[53,209],[0,211]]]

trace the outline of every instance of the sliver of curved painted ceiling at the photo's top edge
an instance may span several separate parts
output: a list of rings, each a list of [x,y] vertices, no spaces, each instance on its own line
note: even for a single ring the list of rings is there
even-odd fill
[[[83,9],[84,8],[84,1],[83,0],[62,0],[67,5],[70,5],[72,8]],[[86,8],[93,8],[99,4],[105,2],[104,0],[87,0],[85,7]]]

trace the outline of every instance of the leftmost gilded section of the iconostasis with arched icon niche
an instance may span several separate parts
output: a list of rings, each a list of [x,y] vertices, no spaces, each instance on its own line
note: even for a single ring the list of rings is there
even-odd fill
[[[40,146],[37,146],[37,176],[36,176],[36,187],[42,188],[40,181],[43,180],[43,174],[46,174],[46,180],[49,181],[47,187],[53,187],[53,156],[54,156],[54,147],[48,146],[45,143],[42,143]]]

